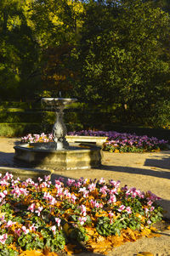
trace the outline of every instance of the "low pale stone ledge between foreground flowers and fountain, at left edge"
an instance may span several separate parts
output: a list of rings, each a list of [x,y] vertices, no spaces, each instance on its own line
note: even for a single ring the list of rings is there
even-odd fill
[[[47,170],[0,167],[0,174],[4,175],[6,173],[13,174],[14,179],[19,177],[22,181],[24,181],[28,178],[31,178],[35,182],[37,182],[38,177],[43,179],[45,175],[51,175],[51,172]]]

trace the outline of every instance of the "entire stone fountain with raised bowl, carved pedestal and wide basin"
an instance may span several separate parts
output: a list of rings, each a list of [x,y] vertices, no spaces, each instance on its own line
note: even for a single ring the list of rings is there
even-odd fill
[[[101,148],[96,145],[69,143],[65,139],[67,130],[63,121],[66,105],[77,99],[42,98],[42,104],[56,112],[53,127],[54,141],[14,146],[14,162],[33,168],[69,170],[98,167],[101,163]]]

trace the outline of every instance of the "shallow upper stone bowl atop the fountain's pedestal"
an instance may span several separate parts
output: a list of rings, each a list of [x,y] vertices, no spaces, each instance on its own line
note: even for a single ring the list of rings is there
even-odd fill
[[[71,103],[76,102],[77,99],[69,99],[69,98],[42,98],[41,102],[42,104],[48,105],[48,106],[65,106],[70,105]]]

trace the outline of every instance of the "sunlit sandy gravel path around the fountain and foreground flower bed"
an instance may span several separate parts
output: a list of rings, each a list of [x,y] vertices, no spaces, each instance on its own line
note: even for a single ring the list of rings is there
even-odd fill
[[[14,167],[13,146],[20,139],[0,138],[0,167]],[[53,170],[52,170],[53,171]],[[152,191],[162,198],[165,217],[170,219],[170,151],[153,153],[104,152],[102,166],[88,170],[58,171],[52,174],[69,178],[101,178],[121,180],[122,186],[136,187],[141,191]],[[134,256],[139,252],[150,252],[154,256],[170,256],[170,230],[161,232],[161,237],[142,238],[127,242],[113,249],[110,256]],[[86,253],[94,255],[94,253]],[[99,255],[99,254],[98,254]]]

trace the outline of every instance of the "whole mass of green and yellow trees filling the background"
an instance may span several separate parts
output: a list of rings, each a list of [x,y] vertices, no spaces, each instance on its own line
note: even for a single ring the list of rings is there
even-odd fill
[[[2,0],[1,100],[77,96],[120,122],[170,122],[166,0]]]

